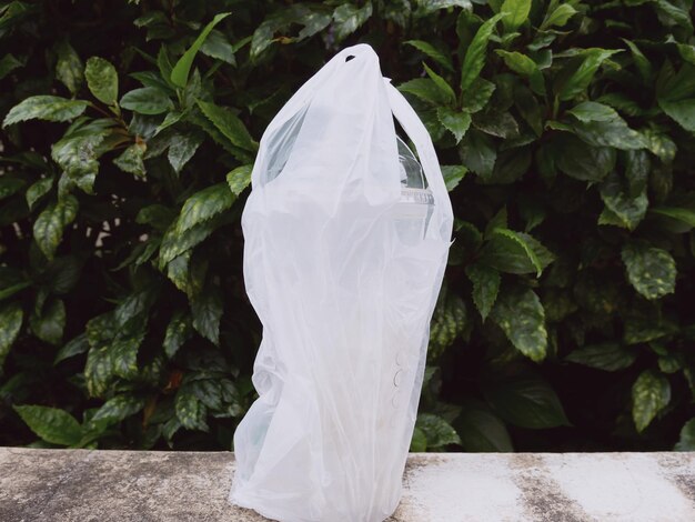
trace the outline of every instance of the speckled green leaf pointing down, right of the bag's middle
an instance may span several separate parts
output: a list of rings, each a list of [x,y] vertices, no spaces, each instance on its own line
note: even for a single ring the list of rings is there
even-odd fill
[[[547,351],[545,311],[532,289],[513,289],[502,292],[490,318],[496,322],[514,347],[540,362]]]

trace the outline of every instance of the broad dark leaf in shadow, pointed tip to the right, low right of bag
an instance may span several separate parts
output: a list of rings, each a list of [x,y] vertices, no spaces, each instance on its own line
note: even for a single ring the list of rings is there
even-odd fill
[[[493,410],[505,421],[532,430],[572,425],[551,385],[533,374],[494,379],[483,393]]]

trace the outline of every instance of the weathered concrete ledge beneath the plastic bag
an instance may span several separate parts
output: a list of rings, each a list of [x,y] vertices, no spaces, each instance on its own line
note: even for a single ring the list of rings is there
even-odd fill
[[[230,521],[228,452],[0,448],[0,521]],[[695,521],[695,453],[412,454],[391,522]],[[355,521],[359,522],[359,521]]]

